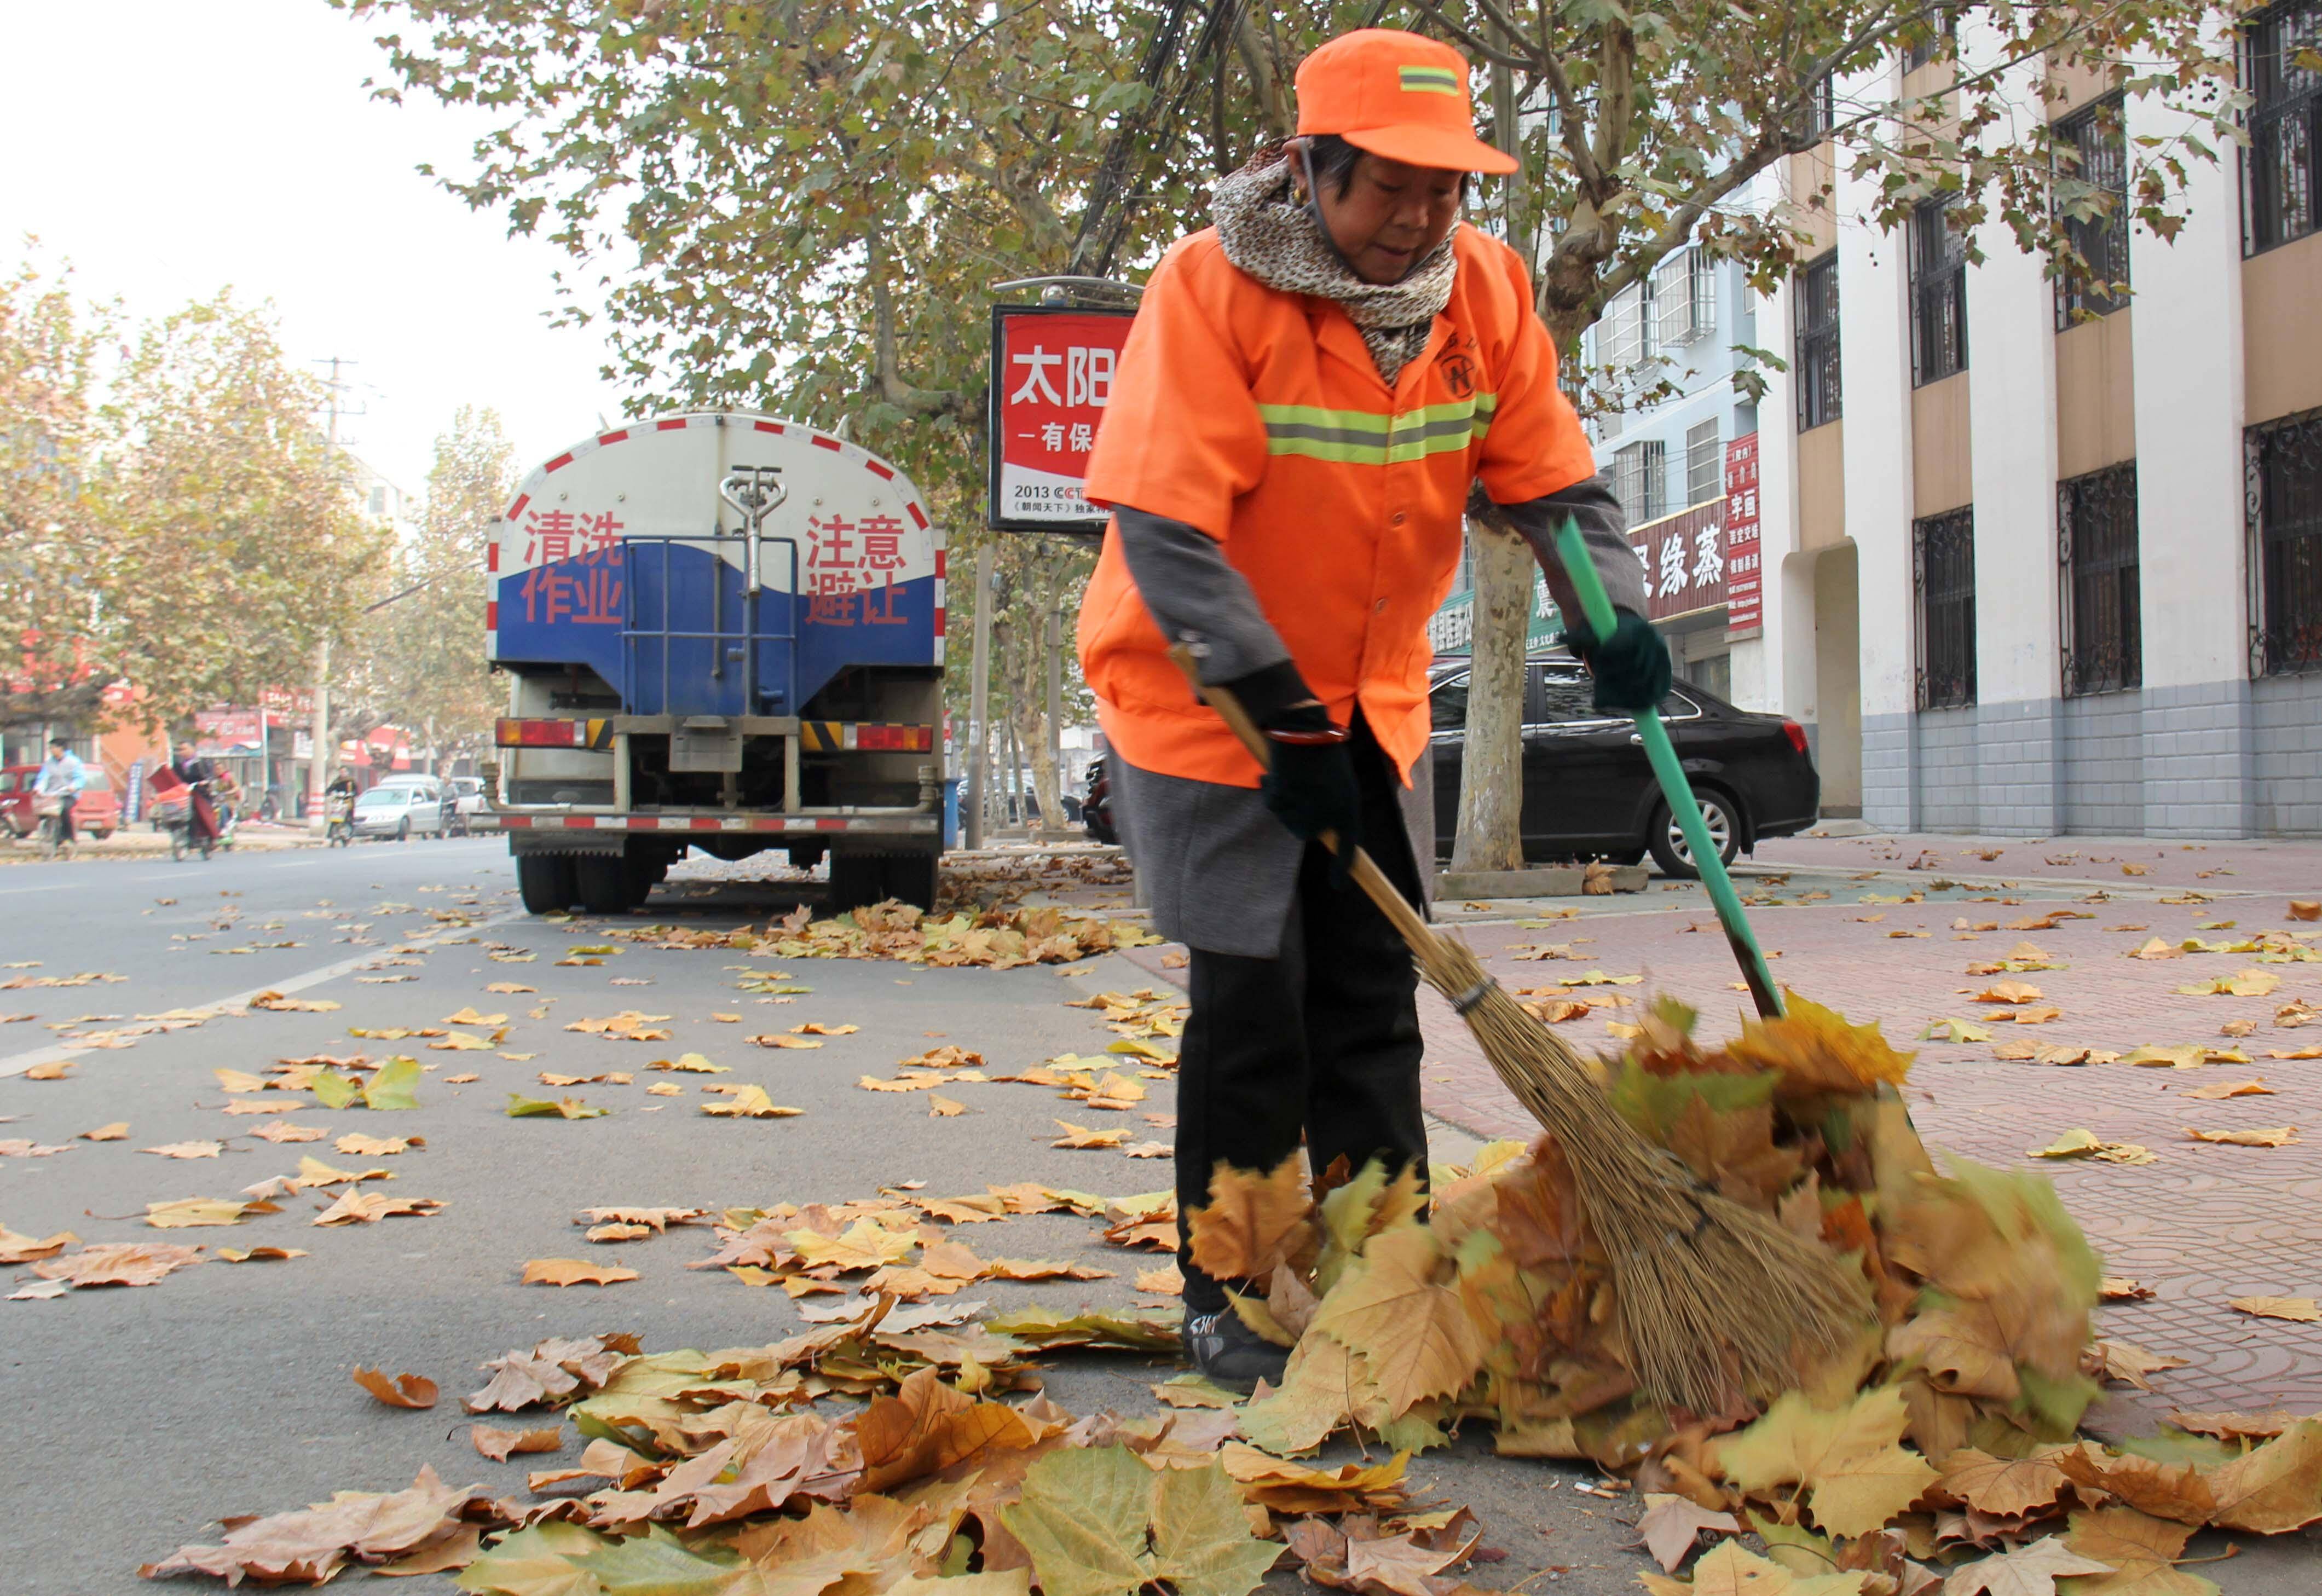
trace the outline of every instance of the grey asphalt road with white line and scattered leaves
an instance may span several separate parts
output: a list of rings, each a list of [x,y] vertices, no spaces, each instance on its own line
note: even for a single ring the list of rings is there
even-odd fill
[[[646,920],[697,925],[764,920],[783,901],[701,897],[671,883]],[[1653,904],[1665,908],[1667,904]],[[1644,908],[1646,904],[1639,904]],[[1595,908],[1595,906],[1591,906]],[[474,920],[474,925],[446,925]],[[1168,1185],[1163,1159],[1068,1152],[1050,1145],[1052,1120],[1075,1106],[1024,1085],[961,1085],[961,1117],[929,1117],[922,1094],[864,1092],[864,1073],[938,1041],[987,1055],[994,1069],[1112,1036],[1091,1011],[1066,1001],[1096,990],[1133,990],[1152,976],[1122,959],[1017,971],[913,969],[878,962],[741,959],[727,950],[648,950],[622,943],[604,964],[557,964],[574,943],[601,941],[590,922],[522,918],[499,843],[423,841],[276,855],[221,855],[209,864],[26,864],[0,871],[0,980],[109,973],[72,987],[0,990],[0,1136],[67,1145],[53,1157],[0,1157],[0,1222],[84,1241],[174,1241],[304,1248],[286,1264],[209,1261],[144,1289],[72,1292],[53,1301],[0,1301],[0,1596],[114,1596],[151,1589],[135,1577],[188,1540],[216,1540],[221,1515],[281,1512],[337,1489],[399,1489],[423,1464],[453,1484],[485,1482],[522,1494],[525,1468],[574,1461],[567,1429],[557,1457],[490,1464],[474,1454],[460,1396],[476,1366],[546,1336],[636,1331],[646,1347],[762,1345],[801,1320],[780,1292],[752,1289],[722,1271],[687,1271],[711,1245],[706,1229],[671,1229],[643,1243],[592,1248],[574,1224],[587,1206],[769,1206],[843,1201],[882,1185],[926,1180],[945,1192],[985,1182],[1040,1180],[1126,1194]],[[295,946],[279,946],[295,943]],[[490,952],[532,952],[504,962]],[[736,990],[738,969],[787,969],[810,992],[787,1001]],[[402,980],[381,983],[381,976]],[[372,978],[372,980],[365,980]],[[495,994],[490,983],[536,994]],[[613,985],[643,983],[643,985]],[[125,1048],[74,1050],[74,1034],[135,1027],[137,1015],[202,1008],[276,987],[341,1004],[330,1013],[214,1018],[197,1027],[130,1038]],[[439,1052],[420,1041],[355,1041],[348,1027],[439,1025],[474,1006],[506,1013],[495,1052]],[[578,1018],[641,1008],[669,1015],[669,1041],[625,1043],[567,1031]],[[711,1013],[738,1013],[727,1025]],[[91,1018],[84,1015],[118,1015]],[[748,1034],[803,1020],[861,1027],[820,1050],[759,1050]],[[77,1025],[74,1025],[77,1022]],[[46,1027],[65,1025],[63,1031]],[[383,1187],[446,1206],[434,1217],[316,1229],[325,1194],[286,1201],[283,1213],[232,1229],[153,1231],[146,1203],[235,1196],[290,1173],[302,1152],[346,1166],[330,1141],[274,1145],[251,1136],[267,1117],[230,1117],[214,1071],[262,1071],[279,1057],[413,1050],[430,1066],[418,1110],[327,1113],[293,1122],[332,1136],[425,1136],[423,1150],[353,1166],[392,1166]],[[697,1050],[731,1066],[717,1083],[757,1083],[792,1120],[715,1120],[699,1113],[692,1076],[650,1076],[657,1057]],[[527,1059],[502,1057],[529,1052]],[[30,1080],[30,1062],[70,1059],[63,1080]],[[632,1085],[548,1090],[536,1073],[632,1071]],[[476,1073],[471,1085],[446,1078]],[[678,1080],[683,1097],[648,1097]],[[1163,1113],[1173,1090],[1154,1080],[1145,1108]],[[576,1094],[613,1108],[601,1120],[511,1120],[506,1094]],[[79,1131],[125,1120],[123,1141],[88,1143]],[[1145,1129],[1140,1124],[1140,1129]],[[1168,1131],[1154,1131],[1166,1138]],[[176,1141],[223,1138],[218,1159],[139,1152]],[[1138,1266],[1094,1238],[1087,1220],[1043,1215],[980,1227],[978,1252],[1080,1257],[1119,1271],[1110,1280],[982,1285],[996,1306],[1112,1303],[1131,1299]],[[527,1259],[590,1257],[641,1273],[615,1287],[525,1287]],[[30,1280],[28,1268],[12,1271]],[[9,1287],[14,1289],[14,1287]],[[441,1387],[427,1412],[374,1403],[348,1368],[413,1371]],[[1057,1359],[1050,1396],[1075,1412],[1149,1412],[1149,1385],[1173,1373],[1131,1357]],[[1449,1454],[1414,1461],[1419,1494],[1470,1503],[1486,1545],[1507,1557],[1472,1570],[1479,1584],[1609,1596],[1632,1591],[1644,1568],[1621,1519],[1635,1498],[1574,1494],[1593,1471],[1488,1457],[1470,1433]],[[1340,1447],[1344,1452],[1344,1447]],[[1335,1454],[1333,1454],[1335,1457]],[[2204,1568],[2234,1596],[2310,1589],[2310,1561],[2238,1559]],[[2273,1568],[2269,1573],[2266,1568]],[[348,1582],[367,1575],[348,1573]],[[207,1582],[193,1582],[204,1584]],[[1272,1584],[1293,1589],[1289,1573]],[[409,1596],[448,1596],[448,1577],[399,1580]]]

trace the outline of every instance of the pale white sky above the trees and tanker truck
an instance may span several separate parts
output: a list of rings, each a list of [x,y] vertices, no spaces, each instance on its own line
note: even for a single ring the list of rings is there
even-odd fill
[[[497,409],[518,469],[620,416],[594,328],[550,328],[562,251],[511,239],[416,172],[469,167],[490,121],[388,79],[383,26],[325,0],[0,0],[0,269],[70,263],[88,297],[163,316],[232,286],[283,353],[341,367],[341,437],[420,493],[460,404]]]

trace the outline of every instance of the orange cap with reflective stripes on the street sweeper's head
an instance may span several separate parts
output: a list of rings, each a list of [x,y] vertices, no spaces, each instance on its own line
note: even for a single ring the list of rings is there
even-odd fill
[[[1514,172],[1474,137],[1468,58],[1400,28],[1342,33],[1298,63],[1298,132],[1335,132],[1372,156],[1444,172]]]

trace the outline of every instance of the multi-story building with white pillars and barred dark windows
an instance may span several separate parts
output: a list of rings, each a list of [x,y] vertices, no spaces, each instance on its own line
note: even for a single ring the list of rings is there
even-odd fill
[[[1683,395],[1600,423],[1598,458],[1651,544],[1704,497],[1711,425],[1739,455],[1728,509],[1755,506],[1760,541],[1744,555],[1728,525],[1735,609],[1665,611],[1656,588],[1656,618],[1681,671],[1811,729],[1825,813],[2322,832],[2322,72],[2296,58],[2317,39],[2322,0],[2243,21],[2250,144],[2187,160],[2173,239],[2120,211],[2074,223],[2094,279],[2127,293],[2067,293],[2002,221],[1969,239],[1941,202],[1872,228],[1876,195],[1823,146],[1781,172],[1834,204],[1809,211],[1816,242],[1779,293],[1670,265],[1591,332],[1595,365],[1667,351],[1709,279],[1716,330],[1667,367],[1695,372]],[[1950,70],[1892,60],[1837,100],[1934,93]],[[2053,86],[2083,181],[2125,188],[2129,149],[2187,132],[2094,77]],[[1690,304],[1663,297],[1679,274]],[[1732,344],[1788,355],[1755,409],[1716,369]]]

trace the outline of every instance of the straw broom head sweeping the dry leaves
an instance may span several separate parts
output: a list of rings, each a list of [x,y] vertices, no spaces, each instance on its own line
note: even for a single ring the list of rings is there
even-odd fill
[[[1563,1145],[1588,1224],[1611,1257],[1621,1327],[1644,1392],[1695,1412],[1795,1387],[1853,1345],[1869,1315],[1860,1271],[1704,1187],[1639,1136],[1581,1057],[1484,973],[1465,943],[1414,948],[1509,1092]]]

